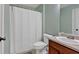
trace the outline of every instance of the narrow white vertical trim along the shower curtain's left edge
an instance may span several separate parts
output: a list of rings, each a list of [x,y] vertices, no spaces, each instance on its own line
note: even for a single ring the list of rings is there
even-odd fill
[[[14,13],[13,13],[13,6],[9,6],[10,10],[10,53],[15,53],[15,45],[14,45]]]

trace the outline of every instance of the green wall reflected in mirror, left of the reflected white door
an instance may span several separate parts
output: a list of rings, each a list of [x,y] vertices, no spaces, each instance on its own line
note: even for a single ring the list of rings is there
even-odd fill
[[[74,4],[60,10],[60,32],[72,33],[72,9],[79,8]]]

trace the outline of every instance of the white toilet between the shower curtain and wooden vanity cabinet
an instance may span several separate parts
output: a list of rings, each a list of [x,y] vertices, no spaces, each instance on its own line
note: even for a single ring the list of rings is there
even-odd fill
[[[38,41],[34,43],[34,49],[36,51],[36,54],[47,54],[48,53],[48,37],[52,35],[44,34],[44,42]]]

